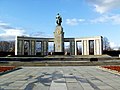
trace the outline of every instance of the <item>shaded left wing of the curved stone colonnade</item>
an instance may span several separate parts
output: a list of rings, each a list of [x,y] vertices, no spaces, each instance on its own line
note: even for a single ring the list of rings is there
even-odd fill
[[[16,37],[15,55],[25,55],[25,42],[28,43],[28,55],[36,55],[36,42],[41,42],[41,55],[47,55],[48,41],[54,39],[32,38],[32,37]]]

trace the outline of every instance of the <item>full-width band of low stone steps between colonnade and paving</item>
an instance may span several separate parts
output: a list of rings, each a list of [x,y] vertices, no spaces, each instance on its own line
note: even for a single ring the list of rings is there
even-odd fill
[[[120,65],[120,58],[75,58],[75,57],[1,57],[0,66],[100,66]]]

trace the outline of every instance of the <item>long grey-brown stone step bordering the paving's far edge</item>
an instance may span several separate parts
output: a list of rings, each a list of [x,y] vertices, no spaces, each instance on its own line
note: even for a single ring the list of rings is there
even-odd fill
[[[116,62],[108,61],[9,61],[0,64],[1,66],[97,66],[97,65],[120,65],[120,60]]]

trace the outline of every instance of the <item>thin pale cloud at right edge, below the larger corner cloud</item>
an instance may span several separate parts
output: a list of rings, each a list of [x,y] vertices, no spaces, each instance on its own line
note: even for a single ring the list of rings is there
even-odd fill
[[[116,15],[102,15],[98,18],[90,20],[91,23],[112,23],[120,24],[120,14]]]

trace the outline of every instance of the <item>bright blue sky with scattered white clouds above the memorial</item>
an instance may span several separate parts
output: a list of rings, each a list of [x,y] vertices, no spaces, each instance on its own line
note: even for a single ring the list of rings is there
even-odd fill
[[[57,13],[65,37],[107,37],[120,46],[120,0],[0,0],[0,40],[53,37]]]

